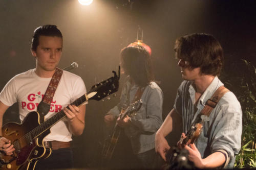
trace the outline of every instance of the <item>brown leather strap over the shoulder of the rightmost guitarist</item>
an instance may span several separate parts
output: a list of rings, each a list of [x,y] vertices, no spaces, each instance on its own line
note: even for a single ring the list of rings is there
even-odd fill
[[[220,101],[220,99],[222,98],[222,96],[228,92],[229,90],[224,87],[224,86],[220,86],[215,92],[214,94],[211,96],[210,99],[207,100],[205,107],[203,108],[203,110],[200,112],[200,114],[209,116],[212,109],[214,109],[217,105],[217,103]]]

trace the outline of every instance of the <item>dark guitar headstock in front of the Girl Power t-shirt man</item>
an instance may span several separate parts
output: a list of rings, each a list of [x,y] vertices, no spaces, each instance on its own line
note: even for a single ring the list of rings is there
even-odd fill
[[[116,74],[116,71],[112,71],[112,72],[114,74],[113,77],[92,86],[91,90],[87,93],[89,96],[89,100],[99,101],[105,98],[106,96],[118,91],[119,78],[120,78],[120,66],[119,66],[118,76]]]

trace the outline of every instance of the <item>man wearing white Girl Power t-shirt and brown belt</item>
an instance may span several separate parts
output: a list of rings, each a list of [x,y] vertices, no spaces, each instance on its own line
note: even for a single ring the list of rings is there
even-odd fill
[[[21,122],[29,112],[37,110],[60,61],[61,52],[62,34],[56,26],[45,25],[35,29],[31,53],[36,59],[36,68],[13,77],[0,93],[1,128],[5,111],[14,103],[18,102]],[[66,114],[66,118],[59,120],[50,129],[51,133],[44,138],[44,144],[52,149],[52,153],[47,159],[38,161],[36,169],[72,167],[70,141],[72,135],[81,135],[83,132],[86,105],[76,107],[70,104],[84,93],[86,87],[82,79],[68,71],[63,71],[45,120],[61,110]],[[15,151],[13,144],[1,135],[2,131],[0,131],[0,151],[12,155]]]

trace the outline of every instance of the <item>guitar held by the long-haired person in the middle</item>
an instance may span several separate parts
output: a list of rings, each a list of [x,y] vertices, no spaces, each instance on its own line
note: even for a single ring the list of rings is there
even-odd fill
[[[134,102],[129,107],[127,107],[127,109],[123,113],[119,114],[120,119],[123,119],[126,115],[128,115],[129,117],[135,116],[136,111],[140,109],[141,105],[142,105],[141,100]],[[104,141],[103,150],[101,153],[102,165],[104,165],[105,163],[108,163],[111,160],[113,152],[116,147],[116,143],[120,136],[120,132],[121,132],[121,127],[119,127],[116,123],[113,128],[113,132]]]

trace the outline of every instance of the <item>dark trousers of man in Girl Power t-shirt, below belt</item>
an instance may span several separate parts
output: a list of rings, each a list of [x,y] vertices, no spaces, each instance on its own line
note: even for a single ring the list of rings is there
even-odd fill
[[[61,148],[52,150],[52,154],[47,159],[39,160],[35,165],[35,170],[47,170],[57,168],[72,168],[73,152],[71,148]]]

